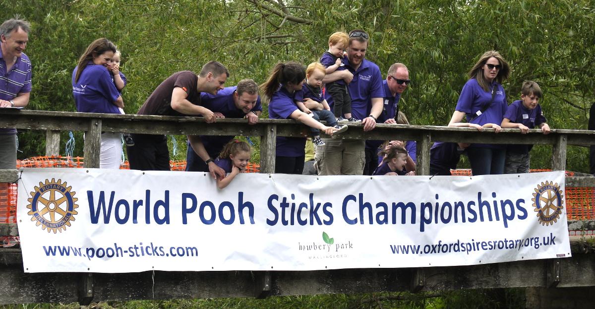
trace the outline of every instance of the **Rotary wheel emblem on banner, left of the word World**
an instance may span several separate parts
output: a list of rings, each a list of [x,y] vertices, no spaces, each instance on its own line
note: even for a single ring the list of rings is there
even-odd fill
[[[79,200],[74,197],[76,192],[71,191],[72,187],[67,186],[66,182],[54,178],[51,181],[46,179],[45,183],[40,182],[34,190],[30,193],[32,197],[27,199],[30,203],[27,205],[30,209],[27,214],[32,216],[31,221],[48,233],[66,230],[70,221],[74,221],[74,215],[78,214],[75,209],[79,205],[74,204]]]

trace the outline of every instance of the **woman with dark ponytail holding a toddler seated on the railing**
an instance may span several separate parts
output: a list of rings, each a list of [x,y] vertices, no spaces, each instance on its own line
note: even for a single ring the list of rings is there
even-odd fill
[[[302,64],[290,61],[278,63],[273,68],[271,76],[261,85],[262,93],[268,98],[268,117],[271,119],[295,119],[306,126],[314,127],[332,135],[337,131],[314,120],[308,114],[300,111],[294,102],[295,92],[302,89],[306,70]],[[302,174],[304,163],[304,147],[306,138],[277,137],[275,155],[275,173]]]

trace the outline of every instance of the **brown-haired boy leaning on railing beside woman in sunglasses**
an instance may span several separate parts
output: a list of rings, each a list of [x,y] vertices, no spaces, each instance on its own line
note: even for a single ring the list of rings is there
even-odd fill
[[[521,99],[512,102],[506,109],[501,126],[506,129],[521,129],[522,134],[527,134],[529,129],[538,126],[543,134],[550,133],[550,126],[547,125],[539,105],[541,94],[541,88],[536,82],[524,82]],[[504,173],[529,173],[531,148],[533,145],[508,145]]]

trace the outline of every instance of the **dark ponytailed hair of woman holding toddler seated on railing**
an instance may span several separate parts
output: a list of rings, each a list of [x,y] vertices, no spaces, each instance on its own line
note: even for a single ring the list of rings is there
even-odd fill
[[[264,82],[260,87],[263,96],[267,99],[271,99],[275,91],[279,88],[279,85],[284,86],[287,83],[299,84],[303,79],[306,78],[306,70],[303,65],[296,63],[295,61],[289,61],[287,63],[277,63],[271,71],[271,75],[267,81]]]

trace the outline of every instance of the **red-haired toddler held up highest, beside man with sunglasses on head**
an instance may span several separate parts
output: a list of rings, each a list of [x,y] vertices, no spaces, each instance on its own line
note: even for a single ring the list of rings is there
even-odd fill
[[[349,36],[345,32],[335,32],[328,38],[328,51],[320,57],[320,63],[327,68],[326,73],[346,70],[343,63],[343,54],[347,49]],[[358,118],[351,116],[351,96],[347,92],[345,80],[339,79],[326,84],[328,94],[333,97],[334,116],[337,121],[361,122]]]

